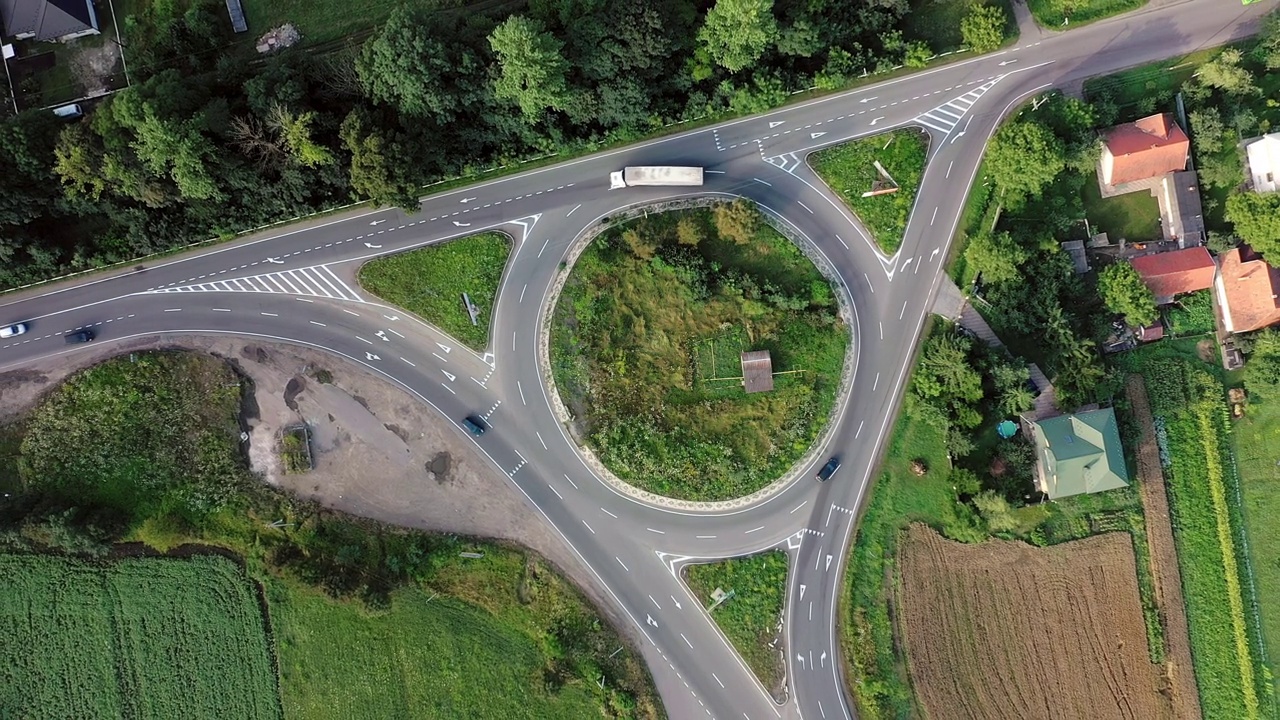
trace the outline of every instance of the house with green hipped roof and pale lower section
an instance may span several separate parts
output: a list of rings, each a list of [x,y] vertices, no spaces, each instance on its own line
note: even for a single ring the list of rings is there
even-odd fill
[[[1110,407],[1027,424],[1036,443],[1036,484],[1050,500],[1129,484],[1120,429]]]

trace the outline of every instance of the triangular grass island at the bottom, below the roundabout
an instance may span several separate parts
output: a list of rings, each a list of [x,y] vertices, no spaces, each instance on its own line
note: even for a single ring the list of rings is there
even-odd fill
[[[713,603],[712,592],[733,591],[712,611],[712,619],[739,655],[769,692],[777,692],[786,678],[778,641],[778,624],[787,593],[787,556],[781,551],[762,552],[750,557],[733,557],[719,562],[690,565],[685,570],[689,589],[703,607]]]

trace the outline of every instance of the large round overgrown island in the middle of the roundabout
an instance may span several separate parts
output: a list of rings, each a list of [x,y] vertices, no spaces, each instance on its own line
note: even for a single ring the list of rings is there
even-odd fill
[[[609,470],[718,501],[805,454],[847,343],[829,283],[740,200],[650,214],[593,242],[556,306],[550,363],[575,432]],[[746,393],[740,355],[760,350],[773,389]]]

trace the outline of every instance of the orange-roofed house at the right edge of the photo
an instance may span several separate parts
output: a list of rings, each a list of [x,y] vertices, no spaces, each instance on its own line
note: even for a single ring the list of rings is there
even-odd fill
[[[1247,333],[1280,323],[1280,270],[1247,245],[1219,258],[1215,291],[1228,333]]]

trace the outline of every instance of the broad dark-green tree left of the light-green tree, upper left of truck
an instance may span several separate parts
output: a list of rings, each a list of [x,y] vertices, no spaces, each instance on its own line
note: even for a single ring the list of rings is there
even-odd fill
[[[454,122],[477,102],[485,65],[439,13],[401,5],[356,58],[365,92],[404,115]]]

